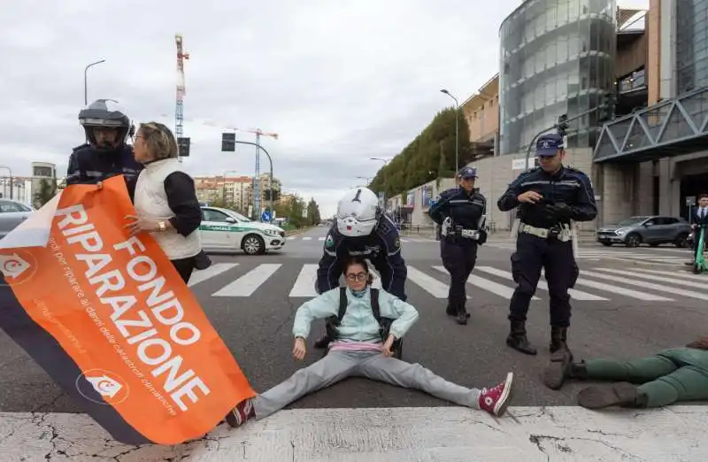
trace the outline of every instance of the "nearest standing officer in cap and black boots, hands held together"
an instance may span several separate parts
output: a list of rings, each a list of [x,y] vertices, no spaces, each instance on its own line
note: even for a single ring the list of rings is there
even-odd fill
[[[550,366],[544,381],[559,386],[573,355],[567,347],[571,307],[568,289],[578,279],[573,255],[573,221],[595,219],[592,184],[585,173],[563,166],[566,151],[561,135],[542,135],[536,142],[539,167],[521,173],[497,203],[507,212],[519,207],[512,274],[517,283],[510,304],[511,332],[506,344],[528,355],[536,350],[527,340],[528,304],[544,269],[550,296]]]

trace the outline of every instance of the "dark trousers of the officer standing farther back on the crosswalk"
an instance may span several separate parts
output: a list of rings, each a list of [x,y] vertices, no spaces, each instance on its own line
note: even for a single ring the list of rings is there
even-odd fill
[[[464,237],[443,236],[440,256],[443,266],[450,273],[448,305],[451,308],[463,307],[467,299],[467,278],[477,262],[477,242]]]

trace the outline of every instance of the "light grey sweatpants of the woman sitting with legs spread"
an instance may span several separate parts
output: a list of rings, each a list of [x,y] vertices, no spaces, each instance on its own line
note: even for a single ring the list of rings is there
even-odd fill
[[[347,377],[366,377],[406,389],[419,389],[455,404],[479,409],[480,390],[456,385],[419,364],[386,358],[381,351],[329,351],[312,366],[253,398],[256,419],[264,419],[288,404]]]

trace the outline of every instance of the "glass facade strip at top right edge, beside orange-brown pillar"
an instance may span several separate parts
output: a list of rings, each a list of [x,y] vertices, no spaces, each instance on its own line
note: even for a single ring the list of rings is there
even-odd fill
[[[676,2],[676,93],[708,86],[708,0]]]

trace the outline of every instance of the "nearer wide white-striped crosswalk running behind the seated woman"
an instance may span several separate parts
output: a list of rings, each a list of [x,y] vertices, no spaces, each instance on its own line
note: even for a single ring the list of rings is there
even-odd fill
[[[443,266],[407,267],[409,289],[413,285],[433,298],[447,298],[450,279]],[[218,277],[218,289],[212,283],[203,286],[209,287],[210,296],[249,297],[269,280],[275,279],[278,287],[284,288],[290,298],[309,298],[317,296],[317,268],[317,263],[216,263],[203,271],[196,271],[189,287],[216,281]],[[379,284],[377,279],[374,286]],[[495,266],[476,266],[467,284],[470,286],[468,297],[492,296],[500,300],[510,300],[516,286],[508,267]],[[708,301],[706,288],[708,278],[704,275],[644,267],[625,270],[598,266],[581,269],[574,289],[569,292],[573,300],[594,303],[607,303],[622,297],[643,302]],[[203,289],[199,290],[204,293]],[[548,292],[548,282],[542,276],[534,299],[546,298]]]

